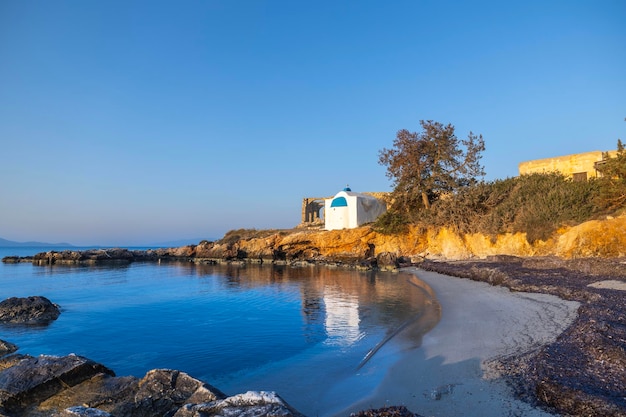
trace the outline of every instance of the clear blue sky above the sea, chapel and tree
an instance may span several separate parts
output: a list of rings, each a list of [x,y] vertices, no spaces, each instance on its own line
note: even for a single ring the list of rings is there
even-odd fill
[[[288,228],[419,120],[486,179],[626,139],[626,2],[0,1],[0,237]]]

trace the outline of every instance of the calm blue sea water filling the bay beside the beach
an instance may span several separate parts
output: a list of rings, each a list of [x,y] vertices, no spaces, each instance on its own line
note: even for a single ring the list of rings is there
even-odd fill
[[[0,248],[0,258],[45,250]],[[400,333],[358,368],[423,311],[428,296],[408,279],[326,267],[0,263],[0,299],[43,295],[62,311],[44,328],[0,326],[0,339],[30,355],[86,356],[117,375],[170,368],[230,395],[272,390],[307,415],[332,415],[419,343]]]

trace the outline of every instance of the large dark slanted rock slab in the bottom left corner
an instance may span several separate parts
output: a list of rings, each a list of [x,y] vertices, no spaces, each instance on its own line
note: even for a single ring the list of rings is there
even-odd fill
[[[54,394],[113,371],[76,355],[24,357],[0,372],[0,409],[21,412]]]

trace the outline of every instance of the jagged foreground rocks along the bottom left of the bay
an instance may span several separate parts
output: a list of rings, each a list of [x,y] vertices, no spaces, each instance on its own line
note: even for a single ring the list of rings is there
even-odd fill
[[[81,356],[2,357],[0,351],[0,416],[246,414],[301,416],[273,392],[228,397],[176,370],[154,369],[143,378],[118,377],[104,365]]]

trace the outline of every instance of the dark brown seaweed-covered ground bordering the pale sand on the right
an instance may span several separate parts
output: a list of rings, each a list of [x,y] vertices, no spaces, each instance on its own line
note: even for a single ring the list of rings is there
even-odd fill
[[[502,359],[501,372],[520,397],[559,414],[626,416],[626,259],[494,256],[419,267],[580,302],[578,318],[556,342]]]

